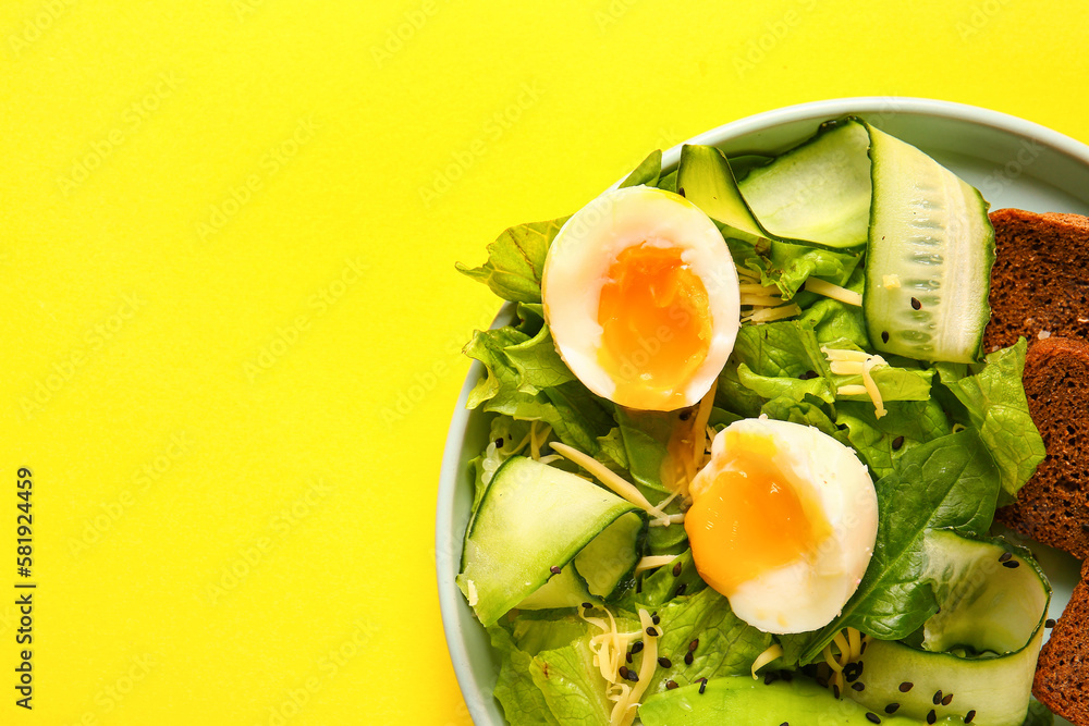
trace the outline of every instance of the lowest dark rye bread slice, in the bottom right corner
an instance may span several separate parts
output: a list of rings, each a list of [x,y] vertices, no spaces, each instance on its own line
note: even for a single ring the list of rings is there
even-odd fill
[[[1040,651],[1032,680],[1037,700],[1077,726],[1089,726],[1089,561],[1081,581]]]

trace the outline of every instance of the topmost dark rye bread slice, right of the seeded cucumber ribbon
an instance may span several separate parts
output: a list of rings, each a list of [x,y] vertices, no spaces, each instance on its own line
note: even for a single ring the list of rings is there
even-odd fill
[[[1020,209],[990,217],[995,260],[983,348],[1041,332],[1089,340],[1089,218]]]

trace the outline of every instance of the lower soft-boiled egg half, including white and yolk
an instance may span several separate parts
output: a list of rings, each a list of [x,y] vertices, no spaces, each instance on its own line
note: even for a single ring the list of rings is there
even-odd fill
[[[828,625],[866,573],[878,500],[855,453],[818,429],[766,418],[718,433],[685,515],[696,569],[760,630]]]

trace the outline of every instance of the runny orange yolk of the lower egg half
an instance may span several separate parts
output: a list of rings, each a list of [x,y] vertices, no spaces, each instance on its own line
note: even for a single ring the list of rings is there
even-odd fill
[[[695,492],[685,515],[696,569],[727,598],[744,582],[816,553],[831,532],[772,460],[767,438],[731,436],[731,462]]]

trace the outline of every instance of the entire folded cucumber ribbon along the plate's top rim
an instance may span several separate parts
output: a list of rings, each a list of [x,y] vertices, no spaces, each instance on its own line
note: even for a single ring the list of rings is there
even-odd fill
[[[865,243],[873,345],[917,360],[979,359],[994,261],[988,204],[914,146],[846,118],[741,183],[721,151],[685,146],[677,185],[744,239]]]

